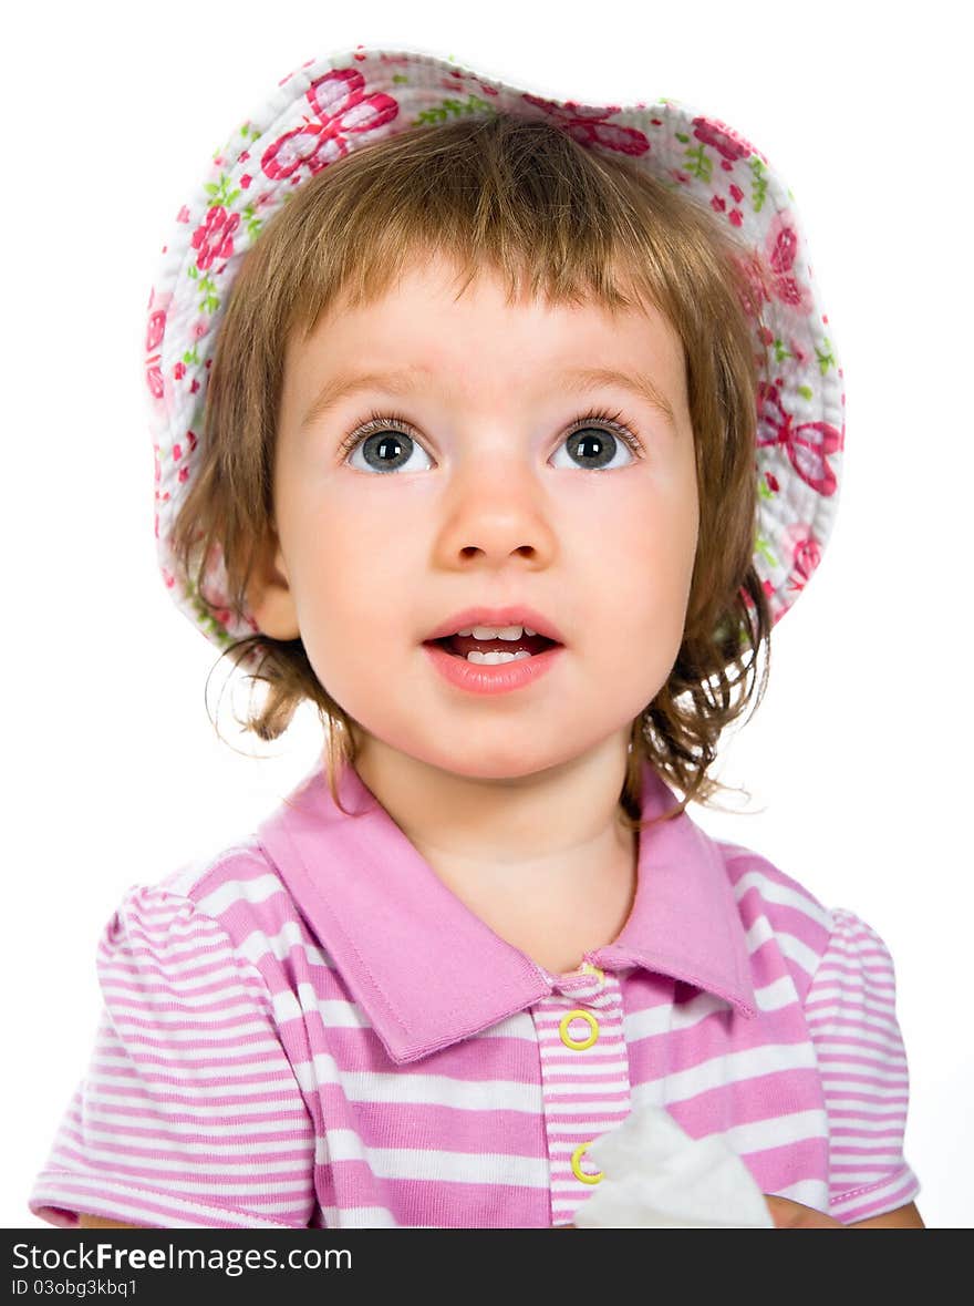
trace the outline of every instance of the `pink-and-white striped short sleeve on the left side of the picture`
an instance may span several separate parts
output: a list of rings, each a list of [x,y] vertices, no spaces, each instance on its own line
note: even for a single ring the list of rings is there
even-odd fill
[[[311,1118],[273,999],[222,926],[134,889],[98,949],[104,1011],[30,1209],[151,1228],[304,1228]]]

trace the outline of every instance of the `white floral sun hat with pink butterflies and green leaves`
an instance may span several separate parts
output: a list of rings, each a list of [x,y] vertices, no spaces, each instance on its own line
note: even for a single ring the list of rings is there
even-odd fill
[[[178,606],[218,646],[257,632],[227,597],[219,555],[202,601],[171,549],[200,461],[206,381],[240,260],[291,188],[351,150],[461,115],[554,123],[586,149],[624,155],[709,205],[768,269],[755,323],[759,422],[755,565],[777,622],[819,565],[837,508],[845,441],[842,370],[821,311],[791,192],[738,132],[672,99],[632,106],[547,99],[415,51],[313,59],[217,150],[179,210],[149,298],[146,383],[155,451],[155,538]],[[757,349],[760,346],[760,350]]]

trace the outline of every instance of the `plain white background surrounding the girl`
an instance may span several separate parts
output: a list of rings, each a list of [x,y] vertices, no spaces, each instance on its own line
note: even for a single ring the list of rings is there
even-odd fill
[[[668,95],[732,124],[791,185],[845,368],[842,507],[776,629],[765,701],[725,750],[722,776],[749,789],[751,814],[691,814],[884,936],[918,1205],[931,1226],[974,1224],[961,13],[847,0],[21,8],[0,89],[3,1226],[38,1224],[27,1194],[84,1071],[95,944],[121,893],[249,831],[315,760],[307,717],[269,760],[228,718],[228,743],[214,735],[215,650],[155,568],[142,341],[157,251],[210,153],[279,77],[356,43],[453,55],[561,99]]]

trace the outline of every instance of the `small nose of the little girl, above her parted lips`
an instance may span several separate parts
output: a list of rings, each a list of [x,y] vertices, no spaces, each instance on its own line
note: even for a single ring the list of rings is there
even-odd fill
[[[503,565],[518,555],[541,568],[555,551],[543,490],[524,460],[497,458],[490,468],[480,461],[457,471],[437,535],[444,565],[467,565],[478,558]]]

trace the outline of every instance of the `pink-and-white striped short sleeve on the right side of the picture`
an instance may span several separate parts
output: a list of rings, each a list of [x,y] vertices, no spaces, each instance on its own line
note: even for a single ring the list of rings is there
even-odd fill
[[[893,959],[851,912],[832,918],[806,1019],[829,1121],[829,1211],[854,1224],[913,1202],[919,1183],[903,1157],[909,1075]]]

